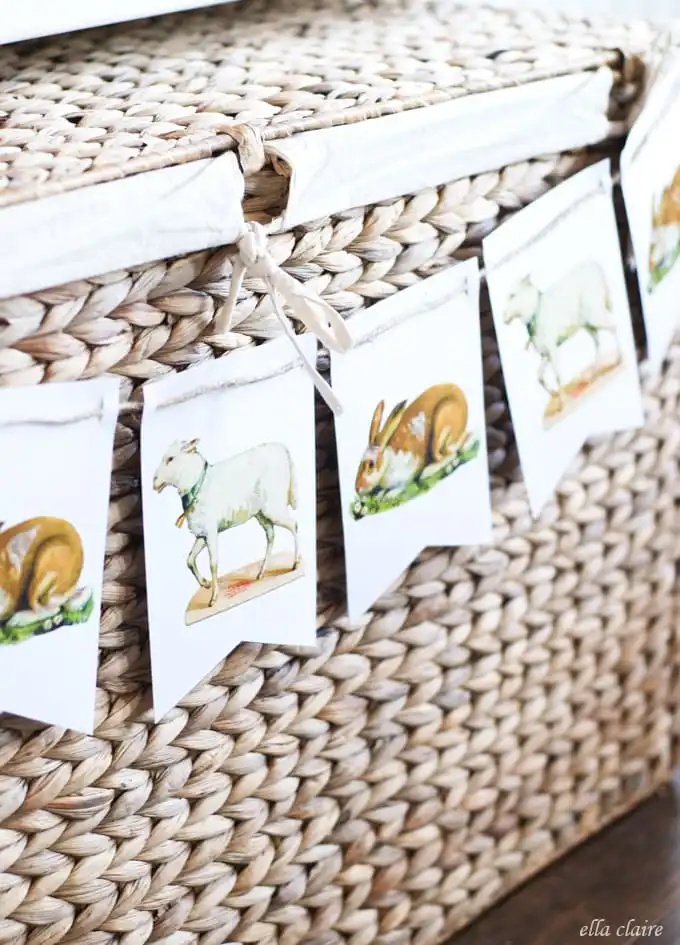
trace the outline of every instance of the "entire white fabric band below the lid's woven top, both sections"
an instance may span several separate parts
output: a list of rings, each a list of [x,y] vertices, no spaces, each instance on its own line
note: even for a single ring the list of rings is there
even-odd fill
[[[607,68],[541,79],[483,93],[484,104],[472,109],[469,96],[459,96],[359,124],[301,132],[278,146],[270,142],[283,176],[260,200],[269,205],[267,219],[258,222],[267,223],[272,234],[293,230],[502,167],[521,170],[524,162],[540,161],[540,154],[597,145],[616,131],[606,114],[612,80]],[[486,128],[482,138],[480,120]],[[507,135],[509,125],[513,131]],[[417,148],[411,147],[414,141]],[[250,147],[252,139],[246,142]],[[244,176],[242,164],[233,151],[223,151],[0,209],[0,243],[6,247],[0,299],[235,243],[245,221],[258,218],[244,201],[253,177]]]

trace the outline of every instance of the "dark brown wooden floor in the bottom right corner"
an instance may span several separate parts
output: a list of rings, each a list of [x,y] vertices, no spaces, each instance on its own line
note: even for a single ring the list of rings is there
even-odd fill
[[[645,925],[641,935],[639,927]],[[680,779],[546,870],[450,945],[589,941],[680,945]]]

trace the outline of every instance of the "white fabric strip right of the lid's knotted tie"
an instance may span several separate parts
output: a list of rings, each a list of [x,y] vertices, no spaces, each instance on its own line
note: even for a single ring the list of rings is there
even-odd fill
[[[292,168],[285,227],[607,137],[609,69],[271,142]]]

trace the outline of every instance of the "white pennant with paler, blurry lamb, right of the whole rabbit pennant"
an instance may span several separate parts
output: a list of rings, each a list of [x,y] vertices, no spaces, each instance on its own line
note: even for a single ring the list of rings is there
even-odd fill
[[[643,423],[609,164],[484,240],[489,296],[529,504],[538,515],[586,440]]]

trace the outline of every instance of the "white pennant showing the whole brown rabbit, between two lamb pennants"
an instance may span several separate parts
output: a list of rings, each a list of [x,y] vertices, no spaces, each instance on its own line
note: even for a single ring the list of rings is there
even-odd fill
[[[349,616],[428,546],[491,540],[476,260],[350,321],[331,354]]]

